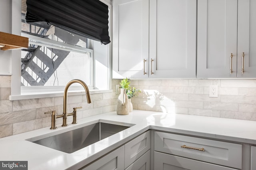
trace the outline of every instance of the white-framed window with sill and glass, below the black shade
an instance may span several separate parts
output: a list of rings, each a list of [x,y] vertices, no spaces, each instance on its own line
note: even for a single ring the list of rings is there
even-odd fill
[[[111,15],[112,6],[109,4],[110,1],[100,1],[108,4],[109,15]],[[26,24],[24,23],[26,0],[12,0],[12,4],[13,33],[19,34],[19,32],[22,32],[22,36],[28,37],[30,48],[21,52],[20,50],[12,51],[10,58],[12,65],[10,100],[62,96],[64,86],[71,79],[82,79],[88,85],[90,93],[110,92],[111,43],[101,45],[100,42],[71,34],[45,23]],[[22,28],[20,25],[22,25]],[[19,58],[21,55],[22,62]],[[65,59],[62,59],[63,56],[66,56]],[[83,58],[83,61],[78,58]],[[58,59],[63,61],[58,63]],[[28,63],[33,63],[34,66],[30,68]],[[34,69],[34,67],[37,69]],[[23,70],[22,75],[27,74],[30,79],[22,77],[21,70]],[[49,70],[52,74],[47,73]],[[66,74],[65,71],[69,74]],[[42,74],[47,76],[44,77]],[[65,78],[66,80],[64,80]],[[92,91],[92,89],[95,90]],[[77,92],[72,92],[70,95],[81,94],[83,87],[74,83],[69,88],[69,92],[72,90]]]

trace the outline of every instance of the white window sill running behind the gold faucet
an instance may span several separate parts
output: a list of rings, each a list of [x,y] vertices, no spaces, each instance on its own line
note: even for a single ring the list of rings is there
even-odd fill
[[[110,93],[112,90],[90,90],[90,94],[96,94],[96,93]],[[64,95],[63,91],[58,92],[42,92],[42,93],[23,93],[21,95],[10,95],[9,100],[24,100],[24,99],[39,99],[39,98],[48,98],[48,97],[62,97]],[[68,96],[74,96],[74,95],[85,95],[85,91],[69,91]]]

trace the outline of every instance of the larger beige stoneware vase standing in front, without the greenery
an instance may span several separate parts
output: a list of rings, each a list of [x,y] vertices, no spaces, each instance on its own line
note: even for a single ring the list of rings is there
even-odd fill
[[[126,95],[126,89],[120,89],[120,95],[118,96],[116,113],[118,115],[129,114],[129,100]]]

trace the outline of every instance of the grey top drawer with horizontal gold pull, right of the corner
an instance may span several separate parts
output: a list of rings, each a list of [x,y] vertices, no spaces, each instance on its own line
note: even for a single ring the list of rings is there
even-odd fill
[[[191,148],[183,148],[186,145]],[[233,168],[242,168],[242,144],[155,132],[155,150]],[[197,150],[195,148],[204,151]]]

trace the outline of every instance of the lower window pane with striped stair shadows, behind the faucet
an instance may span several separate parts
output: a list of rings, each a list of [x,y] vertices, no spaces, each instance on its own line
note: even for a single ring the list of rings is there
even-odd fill
[[[90,85],[90,53],[30,44],[22,51],[22,86],[65,86],[72,79]]]

